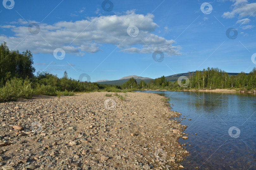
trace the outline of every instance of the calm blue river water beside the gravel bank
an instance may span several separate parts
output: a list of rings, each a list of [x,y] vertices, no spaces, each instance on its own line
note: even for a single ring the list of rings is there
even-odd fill
[[[187,169],[256,169],[256,95],[192,91],[138,91],[171,99],[172,110],[182,114],[181,124],[190,152]],[[183,119],[183,118],[186,119]],[[192,120],[188,120],[192,119]],[[237,127],[232,131],[230,127]],[[230,135],[229,135],[230,129]],[[240,132],[239,132],[240,130]],[[197,135],[195,135],[197,133]],[[188,146],[191,144],[191,146]]]

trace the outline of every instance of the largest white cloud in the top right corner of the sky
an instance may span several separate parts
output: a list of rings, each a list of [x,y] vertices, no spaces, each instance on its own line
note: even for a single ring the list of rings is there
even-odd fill
[[[235,15],[239,15],[239,18],[247,16],[256,16],[256,3],[248,3],[247,0],[231,0],[235,2],[232,5],[231,12],[224,12],[223,18],[234,18]]]

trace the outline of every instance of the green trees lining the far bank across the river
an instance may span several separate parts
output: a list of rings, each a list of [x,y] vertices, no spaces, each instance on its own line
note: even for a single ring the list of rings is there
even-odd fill
[[[121,88],[138,88],[138,89],[239,89],[253,90],[256,88],[256,68],[254,67],[250,73],[241,72],[237,75],[231,75],[219,68],[210,68],[197,70],[195,72],[188,71],[188,79],[178,81],[167,81],[164,76],[150,80],[149,83],[141,80],[139,83],[132,77],[129,81],[121,85]]]

